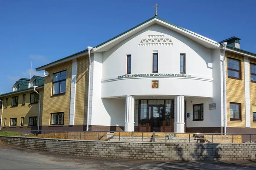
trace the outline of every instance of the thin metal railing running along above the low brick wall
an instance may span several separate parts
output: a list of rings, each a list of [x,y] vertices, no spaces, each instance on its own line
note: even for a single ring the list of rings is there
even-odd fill
[[[164,133],[120,131],[60,131],[60,130],[5,130],[0,136],[20,136],[47,139],[73,139],[110,142],[164,143],[243,143],[256,142],[256,134],[244,133]]]

